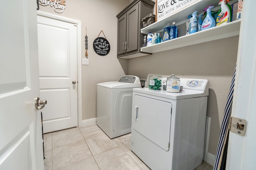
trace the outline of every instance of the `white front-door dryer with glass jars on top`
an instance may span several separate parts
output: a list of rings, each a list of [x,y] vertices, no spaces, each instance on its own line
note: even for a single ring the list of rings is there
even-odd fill
[[[208,80],[180,78],[183,90],[133,89],[131,150],[152,170],[202,164]]]

